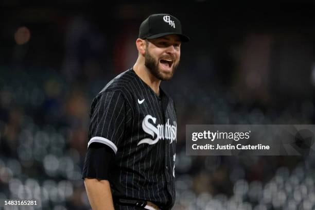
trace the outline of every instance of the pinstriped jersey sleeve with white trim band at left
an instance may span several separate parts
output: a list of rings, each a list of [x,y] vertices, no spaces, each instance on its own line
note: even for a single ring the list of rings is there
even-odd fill
[[[124,134],[126,101],[120,91],[98,94],[91,106],[89,143],[101,143],[110,147],[114,153]]]

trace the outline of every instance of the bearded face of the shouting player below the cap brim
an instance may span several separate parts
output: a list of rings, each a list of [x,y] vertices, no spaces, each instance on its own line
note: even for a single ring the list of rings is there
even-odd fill
[[[160,80],[172,78],[181,56],[181,41],[177,35],[150,39],[145,52],[145,66]]]

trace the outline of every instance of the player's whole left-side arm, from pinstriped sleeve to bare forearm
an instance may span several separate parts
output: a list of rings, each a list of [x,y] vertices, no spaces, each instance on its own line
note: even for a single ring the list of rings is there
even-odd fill
[[[82,178],[94,210],[114,209],[111,193],[112,166],[124,133],[126,101],[120,91],[99,94],[92,103],[88,151]]]

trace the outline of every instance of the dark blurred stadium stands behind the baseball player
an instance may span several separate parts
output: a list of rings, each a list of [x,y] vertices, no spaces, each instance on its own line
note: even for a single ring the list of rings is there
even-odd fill
[[[186,124],[315,124],[315,3],[48,2],[1,2],[0,199],[91,209],[92,98],[135,62],[139,24],[163,12],[191,38],[162,84],[178,110],[173,209],[315,209],[312,156],[185,155]]]

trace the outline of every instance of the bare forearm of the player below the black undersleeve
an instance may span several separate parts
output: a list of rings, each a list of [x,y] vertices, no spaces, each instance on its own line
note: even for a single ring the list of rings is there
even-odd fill
[[[84,185],[93,210],[114,210],[109,181],[85,178]]]

